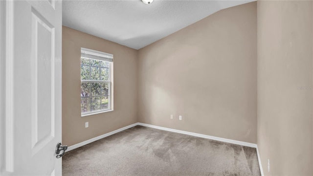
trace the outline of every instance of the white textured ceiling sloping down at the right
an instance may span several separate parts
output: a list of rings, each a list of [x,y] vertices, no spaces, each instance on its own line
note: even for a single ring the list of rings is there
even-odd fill
[[[63,0],[63,25],[134,49],[254,0]]]

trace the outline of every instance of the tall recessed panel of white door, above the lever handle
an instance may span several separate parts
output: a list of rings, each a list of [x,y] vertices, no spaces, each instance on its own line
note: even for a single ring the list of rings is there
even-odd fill
[[[32,147],[40,150],[54,137],[54,27],[32,9]],[[45,85],[42,87],[40,85]],[[40,118],[38,118],[40,117]]]

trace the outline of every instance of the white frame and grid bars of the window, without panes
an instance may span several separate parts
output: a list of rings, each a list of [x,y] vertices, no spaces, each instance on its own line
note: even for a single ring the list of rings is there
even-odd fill
[[[103,112],[109,112],[113,110],[113,96],[112,96],[112,82],[113,82],[113,55],[109,54],[109,53],[105,53],[105,52],[101,52],[101,51],[96,51],[96,50],[92,50],[92,49],[88,49],[88,48],[83,48],[81,47],[81,57],[86,57],[88,59],[94,59],[94,60],[99,60],[99,61],[106,61],[109,62],[109,80],[108,81],[102,81],[100,80],[82,80],[81,79],[81,83],[109,83],[109,90],[108,90],[108,109],[104,109],[104,110],[93,110],[91,111],[91,107],[90,107],[90,111],[88,112],[81,112],[81,116],[89,116],[89,115],[93,115],[93,114],[98,114],[98,113],[103,113]],[[82,64],[81,64],[82,66]],[[101,67],[101,66],[99,66]],[[91,69],[90,63],[89,63],[89,69]],[[100,69],[101,70],[101,69]],[[91,79],[91,70],[89,70],[89,78]],[[100,71],[100,77],[101,77],[101,71]],[[90,85],[91,86],[91,85]],[[91,91],[91,89],[90,89]],[[80,95],[81,96],[81,95]],[[100,95],[100,101],[101,100],[101,95]],[[80,97],[82,98],[82,97]],[[90,106],[91,106],[91,92],[90,92]],[[100,105],[101,107],[101,105]]]

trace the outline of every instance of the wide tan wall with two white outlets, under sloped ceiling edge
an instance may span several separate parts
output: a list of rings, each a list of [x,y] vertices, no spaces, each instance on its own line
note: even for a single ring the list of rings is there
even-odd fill
[[[256,143],[256,29],[251,2],[140,49],[139,122]]]

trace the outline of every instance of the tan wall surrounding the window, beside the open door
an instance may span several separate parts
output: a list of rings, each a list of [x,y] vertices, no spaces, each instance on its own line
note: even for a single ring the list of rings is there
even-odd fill
[[[63,26],[62,142],[73,145],[137,122],[137,50]],[[114,110],[81,117],[81,47],[114,55]],[[89,128],[85,128],[85,122]]]

